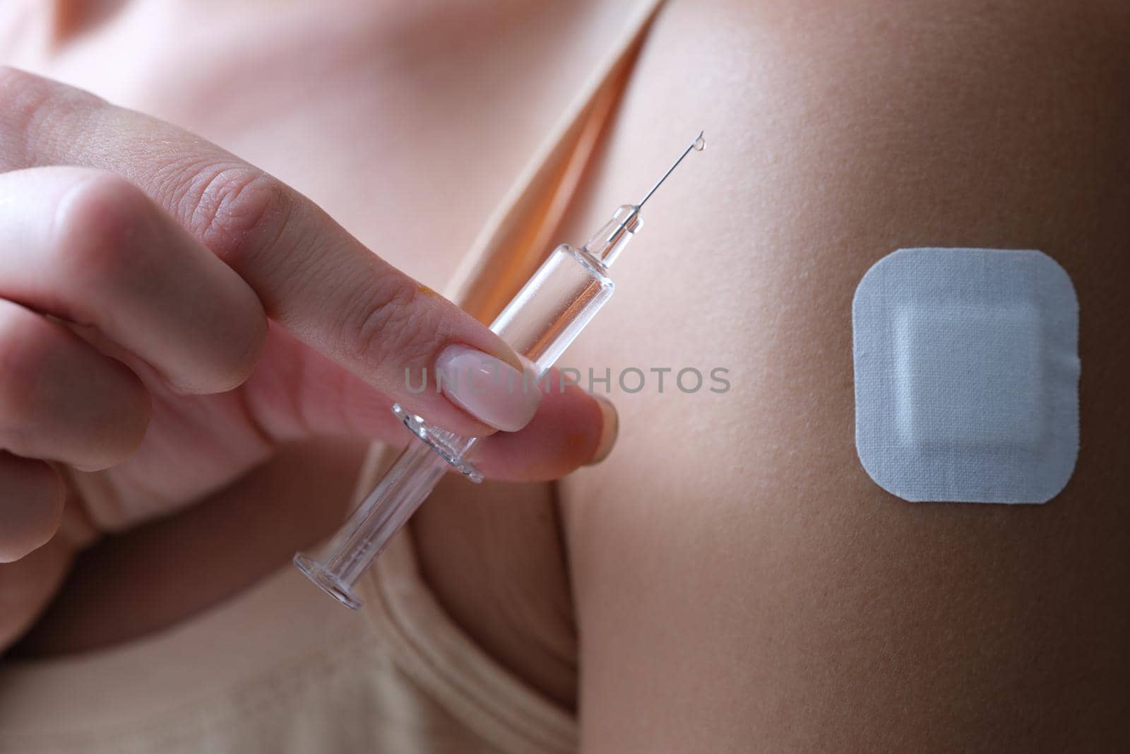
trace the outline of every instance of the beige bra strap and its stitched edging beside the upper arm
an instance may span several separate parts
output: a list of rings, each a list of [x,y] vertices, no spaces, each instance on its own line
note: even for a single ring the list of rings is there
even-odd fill
[[[444,288],[492,320],[550,251],[662,0],[641,1],[625,31],[522,171]],[[395,453],[374,443],[358,503]],[[444,613],[424,583],[410,537],[397,536],[358,584],[365,613],[405,673],[503,752],[575,752],[576,721],[495,662]]]

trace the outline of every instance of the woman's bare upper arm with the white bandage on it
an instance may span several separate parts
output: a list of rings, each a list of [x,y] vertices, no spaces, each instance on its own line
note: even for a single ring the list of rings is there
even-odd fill
[[[562,483],[583,751],[1130,747],[1128,38],[1114,2],[660,15],[562,236],[706,150],[564,363],[732,388],[615,395],[616,450]],[[860,466],[852,294],[915,245],[1070,274],[1081,450],[1051,502],[912,504]]]

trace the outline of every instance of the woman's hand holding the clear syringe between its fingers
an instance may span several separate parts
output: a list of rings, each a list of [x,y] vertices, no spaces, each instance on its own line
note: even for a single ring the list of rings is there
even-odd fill
[[[468,349],[521,364],[199,138],[3,69],[0,171],[0,562],[50,540],[68,496],[72,549],[201,499],[280,441],[401,441],[393,401],[466,435],[537,410],[484,443],[476,461],[495,477],[551,478],[606,452],[615,421],[576,388],[540,408],[505,380],[408,390],[406,369],[418,385]],[[0,647],[53,589],[29,589],[26,570],[0,566]]]

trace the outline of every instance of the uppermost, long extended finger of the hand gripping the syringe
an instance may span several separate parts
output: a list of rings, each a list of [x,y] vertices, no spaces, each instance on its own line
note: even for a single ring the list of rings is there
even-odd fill
[[[0,69],[0,168],[43,165],[112,171],[140,187],[249,283],[268,317],[414,413],[472,436],[516,428],[492,421],[496,404],[477,418],[470,410],[483,400],[408,389],[406,370],[418,383],[449,346],[469,346],[519,374],[522,365],[505,341],[366,249],[314,202],[174,125]],[[515,411],[529,421],[536,408],[504,413],[516,424]]]

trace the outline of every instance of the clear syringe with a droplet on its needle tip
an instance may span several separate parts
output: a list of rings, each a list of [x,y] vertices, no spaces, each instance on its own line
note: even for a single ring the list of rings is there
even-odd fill
[[[533,384],[611,297],[608,268],[643,225],[640,209],[684,157],[704,146],[699,133],[640,203],[618,207],[584,246],[557,246],[495,319],[490,329],[524,357]],[[400,453],[318,558],[304,553],[294,556],[303,573],[353,609],[362,604],[355,590],[357,580],[451,467],[473,482],[483,480],[467,460],[478,437],[434,427],[400,405],[392,411],[419,442],[410,442]]]

